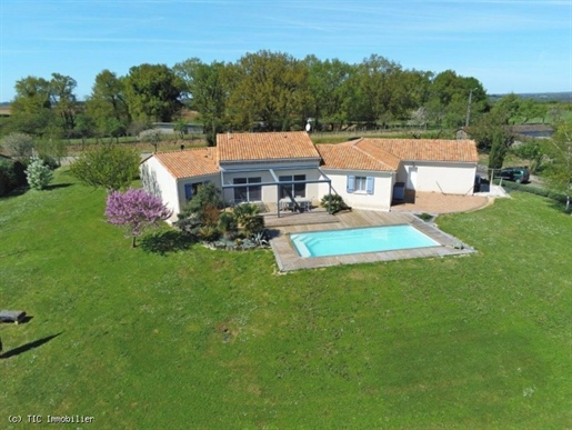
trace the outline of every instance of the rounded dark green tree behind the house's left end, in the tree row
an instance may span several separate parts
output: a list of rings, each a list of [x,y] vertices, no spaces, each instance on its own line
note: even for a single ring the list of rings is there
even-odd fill
[[[181,79],[164,64],[132,67],[126,79],[129,112],[142,121],[171,122],[182,108],[183,89]]]

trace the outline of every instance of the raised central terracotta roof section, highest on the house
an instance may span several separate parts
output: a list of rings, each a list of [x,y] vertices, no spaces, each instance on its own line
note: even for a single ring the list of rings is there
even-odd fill
[[[305,131],[217,134],[220,161],[319,159]]]

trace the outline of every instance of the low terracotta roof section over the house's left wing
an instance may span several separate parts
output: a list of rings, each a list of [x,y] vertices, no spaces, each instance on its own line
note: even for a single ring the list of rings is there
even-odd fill
[[[218,173],[217,148],[194,148],[184,151],[153,154],[174,178],[190,178]]]

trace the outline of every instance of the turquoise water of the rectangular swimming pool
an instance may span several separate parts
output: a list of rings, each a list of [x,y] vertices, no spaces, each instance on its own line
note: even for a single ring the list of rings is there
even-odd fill
[[[409,224],[312,231],[290,234],[290,240],[300,257],[329,257],[440,246]]]

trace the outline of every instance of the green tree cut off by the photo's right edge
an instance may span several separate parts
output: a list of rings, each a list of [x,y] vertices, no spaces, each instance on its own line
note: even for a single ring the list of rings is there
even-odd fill
[[[553,138],[545,143],[550,157],[546,179],[550,186],[566,196],[566,211],[570,211],[572,194],[572,122],[562,123]]]

